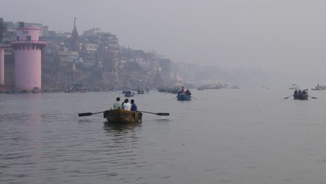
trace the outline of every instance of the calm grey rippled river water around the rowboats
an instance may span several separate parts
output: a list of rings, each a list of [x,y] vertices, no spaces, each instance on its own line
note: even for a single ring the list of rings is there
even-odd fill
[[[326,92],[137,95],[138,125],[104,123],[119,91],[0,94],[0,183],[326,183]],[[172,100],[173,99],[173,100]]]

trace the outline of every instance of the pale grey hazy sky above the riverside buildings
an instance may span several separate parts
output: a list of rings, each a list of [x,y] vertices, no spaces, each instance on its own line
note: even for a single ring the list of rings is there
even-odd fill
[[[5,21],[54,31],[100,28],[121,45],[156,49],[173,61],[274,72],[323,73],[322,0],[2,0]]]

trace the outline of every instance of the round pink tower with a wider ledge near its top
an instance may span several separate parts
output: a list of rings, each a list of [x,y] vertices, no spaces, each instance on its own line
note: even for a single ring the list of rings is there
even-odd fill
[[[31,91],[41,89],[41,49],[46,45],[40,41],[39,27],[17,28],[17,40],[11,42],[15,50],[15,89]]]

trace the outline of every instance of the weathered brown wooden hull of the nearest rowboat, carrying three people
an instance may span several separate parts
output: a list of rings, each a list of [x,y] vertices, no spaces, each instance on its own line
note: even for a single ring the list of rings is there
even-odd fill
[[[110,109],[104,111],[103,116],[110,123],[140,123],[143,114],[123,109]]]

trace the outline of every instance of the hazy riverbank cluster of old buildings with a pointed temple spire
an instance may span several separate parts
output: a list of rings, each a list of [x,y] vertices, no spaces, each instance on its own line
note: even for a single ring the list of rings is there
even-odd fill
[[[40,28],[42,49],[42,89],[65,90],[70,86],[87,89],[147,89],[158,86],[183,86],[196,79],[201,68],[174,63],[155,51],[145,52],[119,45],[116,35],[99,28],[79,35],[76,18],[72,32],[57,33],[49,26],[29,22],[5,22],[0,27],[4,52],[4,83],[15,86],[15,49],[17,27]],[[23,33],[24,34],[24,33]],[[26,38],[28,40],[28,38]],[[180,75],[186,77],[183,79]]]

